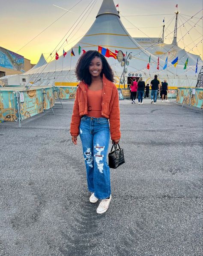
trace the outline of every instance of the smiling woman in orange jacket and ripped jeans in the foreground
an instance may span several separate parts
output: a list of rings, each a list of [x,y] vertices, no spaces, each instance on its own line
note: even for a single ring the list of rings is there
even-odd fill
[[[117,144],[120,139],[119,95],[113,84],[113,71],[97,51],[83,54],[75,73],[81,82],[76,92],[70,133],[75,145],[80,134],[87,185],[92,192],[90,202],[101,200],[97,213],[104,213],[111,200],[110,169],[107,165],[109,140],[111,137],[112,143]]]

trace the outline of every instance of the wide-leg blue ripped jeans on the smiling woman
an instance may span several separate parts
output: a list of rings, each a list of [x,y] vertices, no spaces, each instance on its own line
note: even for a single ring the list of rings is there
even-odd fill
[[[87,170],[87,185],[96,198],[110,197],[110,169],[107,152],[110,140],[109,122],[105,117],[83,116],[80,137]]]

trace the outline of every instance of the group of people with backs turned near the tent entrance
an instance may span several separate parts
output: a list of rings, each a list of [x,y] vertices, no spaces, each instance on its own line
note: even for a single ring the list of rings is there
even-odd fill
[[[162,102],[164,102],[164,99],[166,102],[167,100],[167,91],[168,91],[168,83],[166,82],[166,79],[164,79],[164,82],[160,82],[157,79],[157,75],[154,76],[154,79],[150,82],[151,86],[151,104],[156,104],[157,101],[157,95],[158,91],[160,91]],[[143,95],[145,91],[145,98],[149,98],[149,84],[145,86],[145,82],[142,80],[142,77],[139,78],[138,82],[136,81],[136,78],[134,77],[131,81],[131,103],[135,104],[135,99],[138,94],[138,105],[143,104]]]

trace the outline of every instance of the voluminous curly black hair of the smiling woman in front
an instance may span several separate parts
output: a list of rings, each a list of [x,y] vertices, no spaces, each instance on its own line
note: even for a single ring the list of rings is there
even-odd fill
[[[89,66],[90,66],[90,62],[95,57],[100,58],[102,62],[102,70],[101,70],[100,76],[102,77],[104,74],[109,81],[113,82],[113,70],[111,69],[104,55],[102,55],[98,51],[92,51],[92,50],[85,52],[81,56],[81,58],[79,58],[76,65],[76,69],[75,69],[75,74],[77,79],[79,81],[83,80],[87,85],[91,84],[92,76],[90,75],[90,72],[89,72]]]

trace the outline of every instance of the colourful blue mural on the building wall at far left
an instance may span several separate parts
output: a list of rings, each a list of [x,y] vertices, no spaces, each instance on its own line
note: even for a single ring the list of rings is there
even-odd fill
[[[0,67],[24,72],[24,57],[0,47]]]

